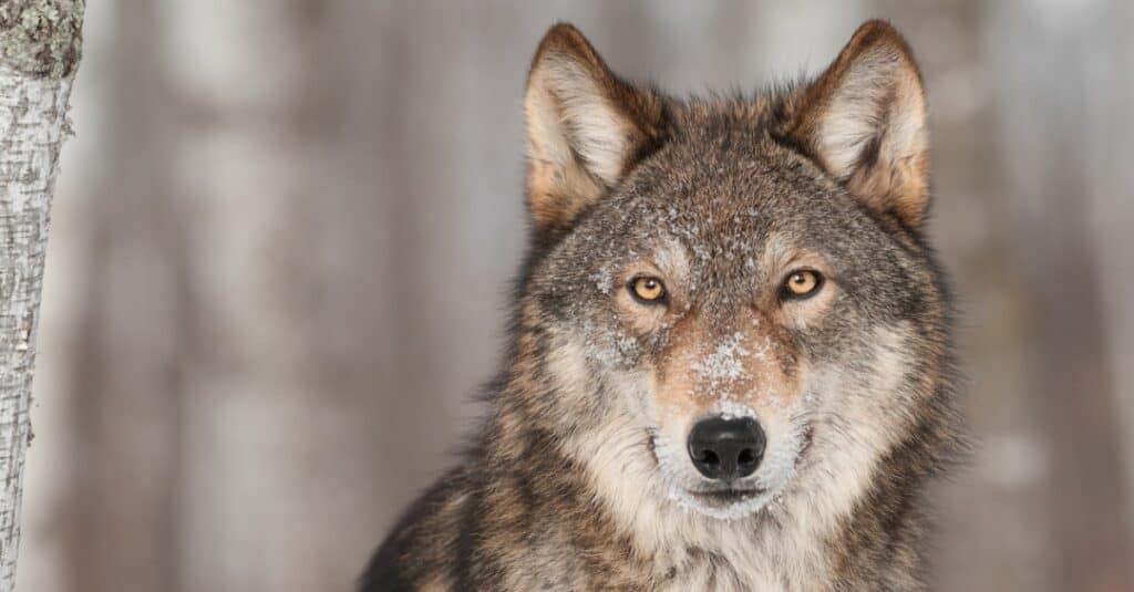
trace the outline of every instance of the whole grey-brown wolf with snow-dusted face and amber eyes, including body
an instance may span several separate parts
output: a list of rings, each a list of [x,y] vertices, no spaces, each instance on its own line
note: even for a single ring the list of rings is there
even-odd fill
[[[883,22],[814,81],[684,100],[552,27],[484,425],[361,590],[923,590],[962,448],[925,113]]]

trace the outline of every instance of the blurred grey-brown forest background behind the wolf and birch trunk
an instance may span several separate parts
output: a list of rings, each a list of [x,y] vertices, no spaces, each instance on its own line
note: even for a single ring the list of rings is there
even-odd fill
[[[979,439],[936,589],[1134,578],[1134,5],[90,2],[19,590],[348,590],[476,417],[524,250],[521,96],[558,19],[675,93],[923,68]]]

